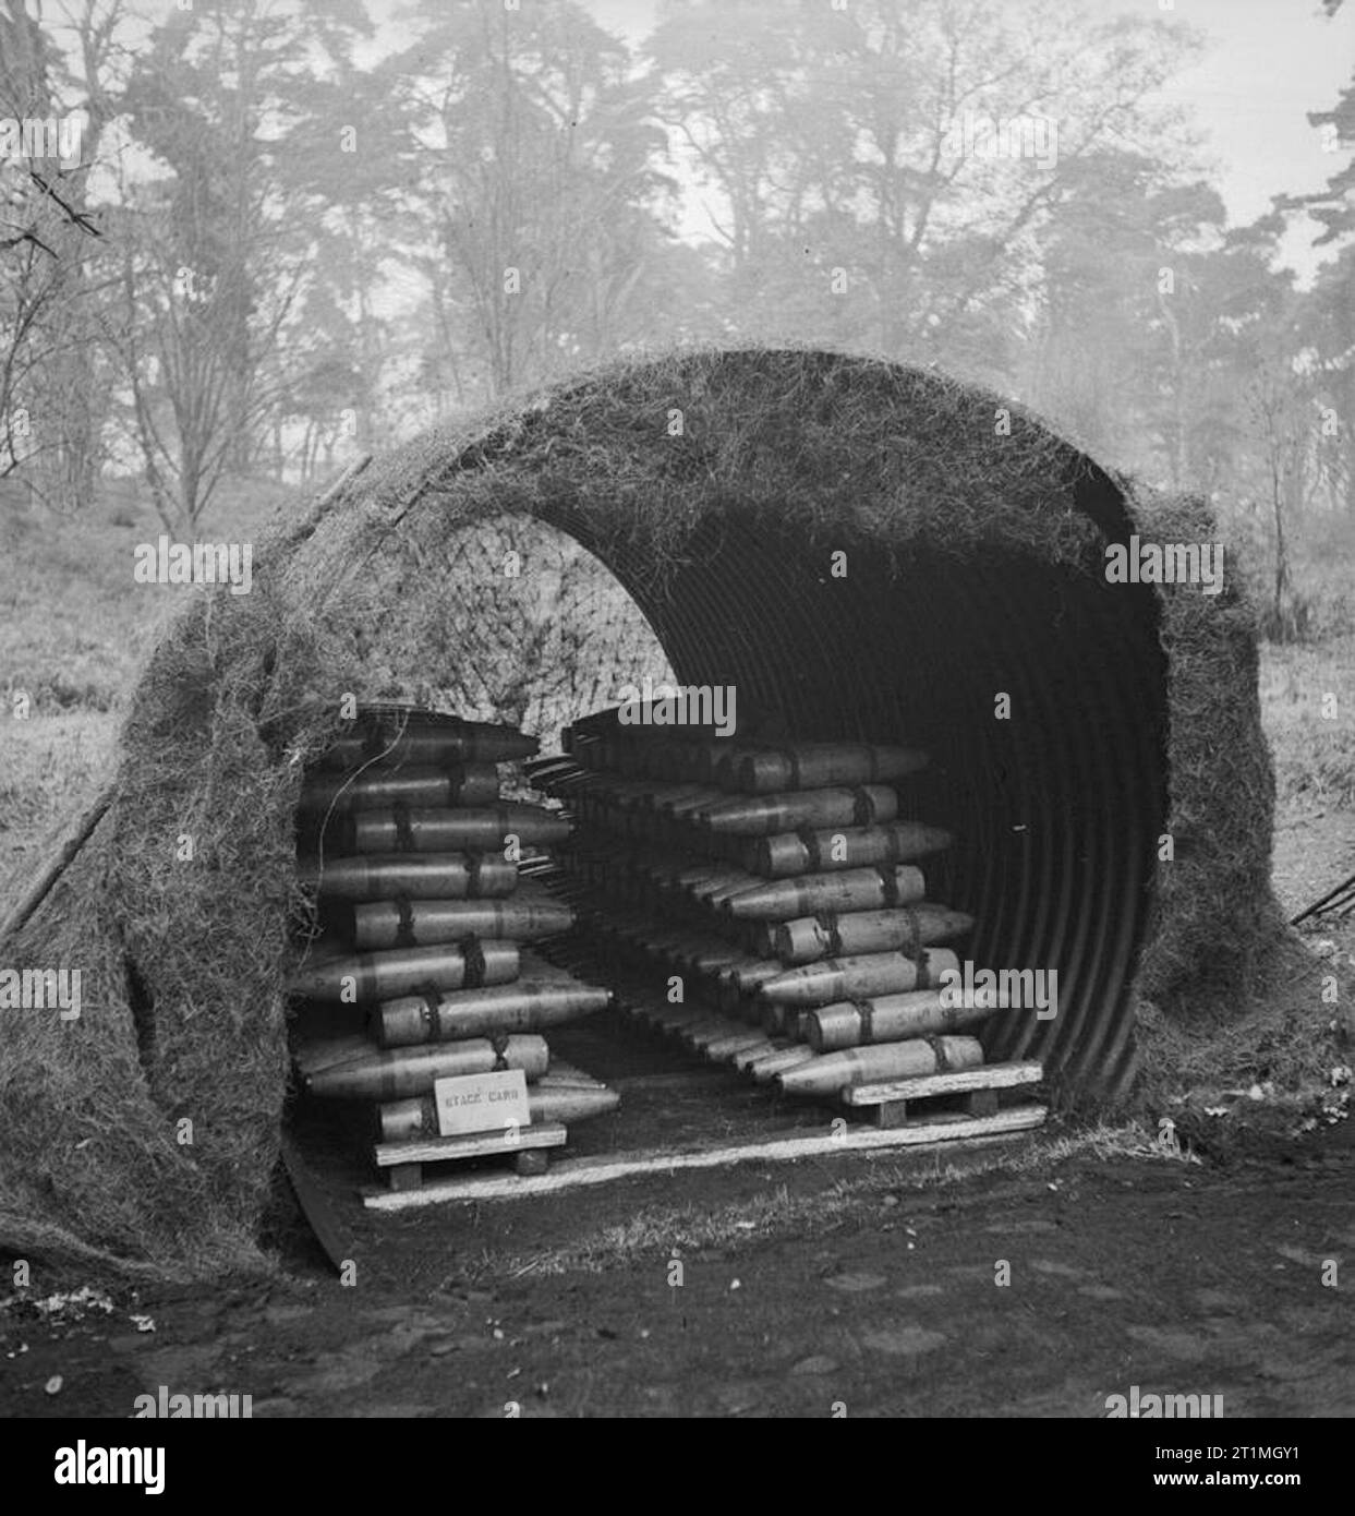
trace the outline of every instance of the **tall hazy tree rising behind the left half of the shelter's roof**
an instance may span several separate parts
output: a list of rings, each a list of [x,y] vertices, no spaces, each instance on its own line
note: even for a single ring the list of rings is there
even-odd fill
[[[652,320],[670,185],[624,44],[570,0],[424,0],[379,77],[408,123],[406,230],[491,394],[614,352]]]

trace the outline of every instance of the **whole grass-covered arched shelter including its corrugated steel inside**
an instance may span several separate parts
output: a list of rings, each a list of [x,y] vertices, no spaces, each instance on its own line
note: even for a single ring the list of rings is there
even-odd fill
[[[253,593],[196,596],[153,653],[109,814],[0,943],[85,970],[79,1022],[6,1019],[0,1243],[262,1264],[302,772],[344,691],[409,688],[411,626],[456,593],[449,534],[505,514],[597,553],[682,681],[802,735],[929,746],[917,814],[962,838],[934,896],[978,916],[976,961],[1061,972],[1058,1017],[988,1057],[1120,1098],[1137,981],[1187,1014],[1243,993],[1279,934],[1252,622],[1231,584],[1108,585],[1106,541],[1208,538],[1208,515],[1131,499],[1008,409],[868,359],[687,353],[430,432],[283,520]]]

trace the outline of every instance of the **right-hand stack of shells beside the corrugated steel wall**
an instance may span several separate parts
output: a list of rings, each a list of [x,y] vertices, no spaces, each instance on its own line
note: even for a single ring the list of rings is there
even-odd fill
[[[568,728],[567,756],[535,766],[534,784],[574,816],[561,861],[594,931],[749,1023],[717,1028],[706,1057],[815,1098],[982,1064],[978,1038],[955,1032],[1000,1007],[943,999],[961,966],[937,946],[973,919],[926,901],[917,864],[952,837],[899,819],[897,787],[925,753],[626,714]]]

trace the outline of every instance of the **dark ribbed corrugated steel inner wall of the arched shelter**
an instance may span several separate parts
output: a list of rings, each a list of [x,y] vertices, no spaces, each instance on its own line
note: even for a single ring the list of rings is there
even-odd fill
[[[1134,526],[1114,484],[1067,462],[1108,540]],[[976,917],[961,957],[1056,969],[1058,1016],[994,1017],[990,1061],[1041,1058],[1055,1101],[1093,1105],[1132,1076],[1132,984],[1167,816],[1167,666],[1150,587],[1108,587],[1029,556],[796,526],[721,502],[655,588],[650,565],[541,512],[635,599],[684,684],[735,685],[791,734],[906,743],[932,755],[900,816],[953,831],[926,860],[928,897]],[[831,573],[846,553],[847,573]],[[997,719],[1008,694],[1014,719]]]

